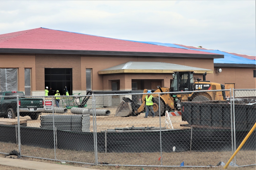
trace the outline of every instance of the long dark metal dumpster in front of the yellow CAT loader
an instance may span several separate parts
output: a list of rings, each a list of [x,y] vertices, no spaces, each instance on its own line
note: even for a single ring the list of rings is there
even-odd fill
[[[182,120],[190,126],[231,128],[228,101],[181,102],[181,106]],[[236,129],[250,130],[256,122],[256,105],[234,104],[234,108]]]

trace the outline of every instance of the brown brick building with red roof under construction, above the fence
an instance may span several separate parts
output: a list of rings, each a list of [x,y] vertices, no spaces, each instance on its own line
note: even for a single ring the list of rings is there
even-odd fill
[[[0,35],[0,52],[0,91],[26,95],[44,95],[45,86],[61,95],[65,86],[70,94],[170,87],[172,72],[180,70],[193,70],[199,78],[207,72],[208,81],[235,88],[253,89],[256,82],[255,64],[216,65],[222,54],[45,28]],[[164,68],[168,64],[177,65]]]

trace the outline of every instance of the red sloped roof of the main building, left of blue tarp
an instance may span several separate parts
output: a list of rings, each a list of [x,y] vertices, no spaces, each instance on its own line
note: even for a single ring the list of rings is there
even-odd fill
[[[208,52],[36,28],[0,35],[0,48],[210,54]]]

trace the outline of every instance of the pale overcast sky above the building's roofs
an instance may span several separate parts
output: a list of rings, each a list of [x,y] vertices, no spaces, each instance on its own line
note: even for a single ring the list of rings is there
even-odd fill
[[[39,27],[256,56],[256,1],[0,1],[0,34]]]

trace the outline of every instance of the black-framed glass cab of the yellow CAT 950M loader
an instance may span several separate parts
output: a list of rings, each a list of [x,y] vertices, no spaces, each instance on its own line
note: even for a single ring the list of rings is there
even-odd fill
[[[173,82],[170,91],[193,91],[194,90],[194,71],[173,72]]]

